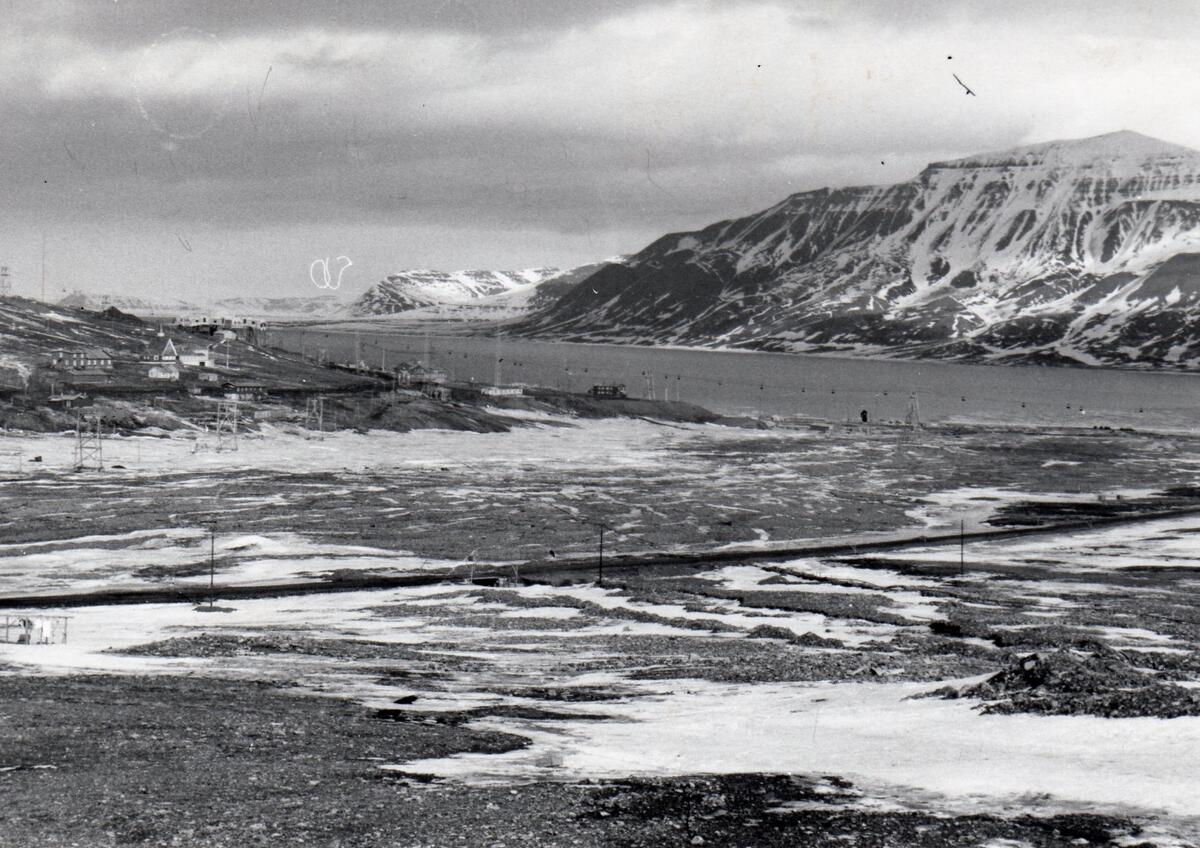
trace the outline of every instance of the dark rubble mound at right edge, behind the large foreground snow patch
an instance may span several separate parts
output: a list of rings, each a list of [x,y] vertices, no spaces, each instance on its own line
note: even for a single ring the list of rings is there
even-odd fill
[[[1030,654],[950,697],[989,702],[996,714],[1094,715],[1106,718],[1200,715],[1200,691],[1163,682],[1117,651]]]

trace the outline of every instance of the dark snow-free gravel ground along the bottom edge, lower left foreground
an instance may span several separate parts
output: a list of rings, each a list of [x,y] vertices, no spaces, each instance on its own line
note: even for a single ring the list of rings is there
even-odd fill
[[[428,784],[376,764],[522,740],[254,682],[0,678],[0,846],[1134,844],[1102,816],[871,811],[838,777]],[[17,766],[17,768],[12,768]],[[1124,841],[1118,842],[1124,837]],[[1147,843],[1148,844],[1148,843]]]

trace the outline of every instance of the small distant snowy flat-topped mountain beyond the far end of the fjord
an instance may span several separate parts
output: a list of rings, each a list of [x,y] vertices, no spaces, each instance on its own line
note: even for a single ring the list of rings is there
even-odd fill
[[[356,315],[505,320],[548,306],[600,265],[524,271],[400,271],[354,301]]]

